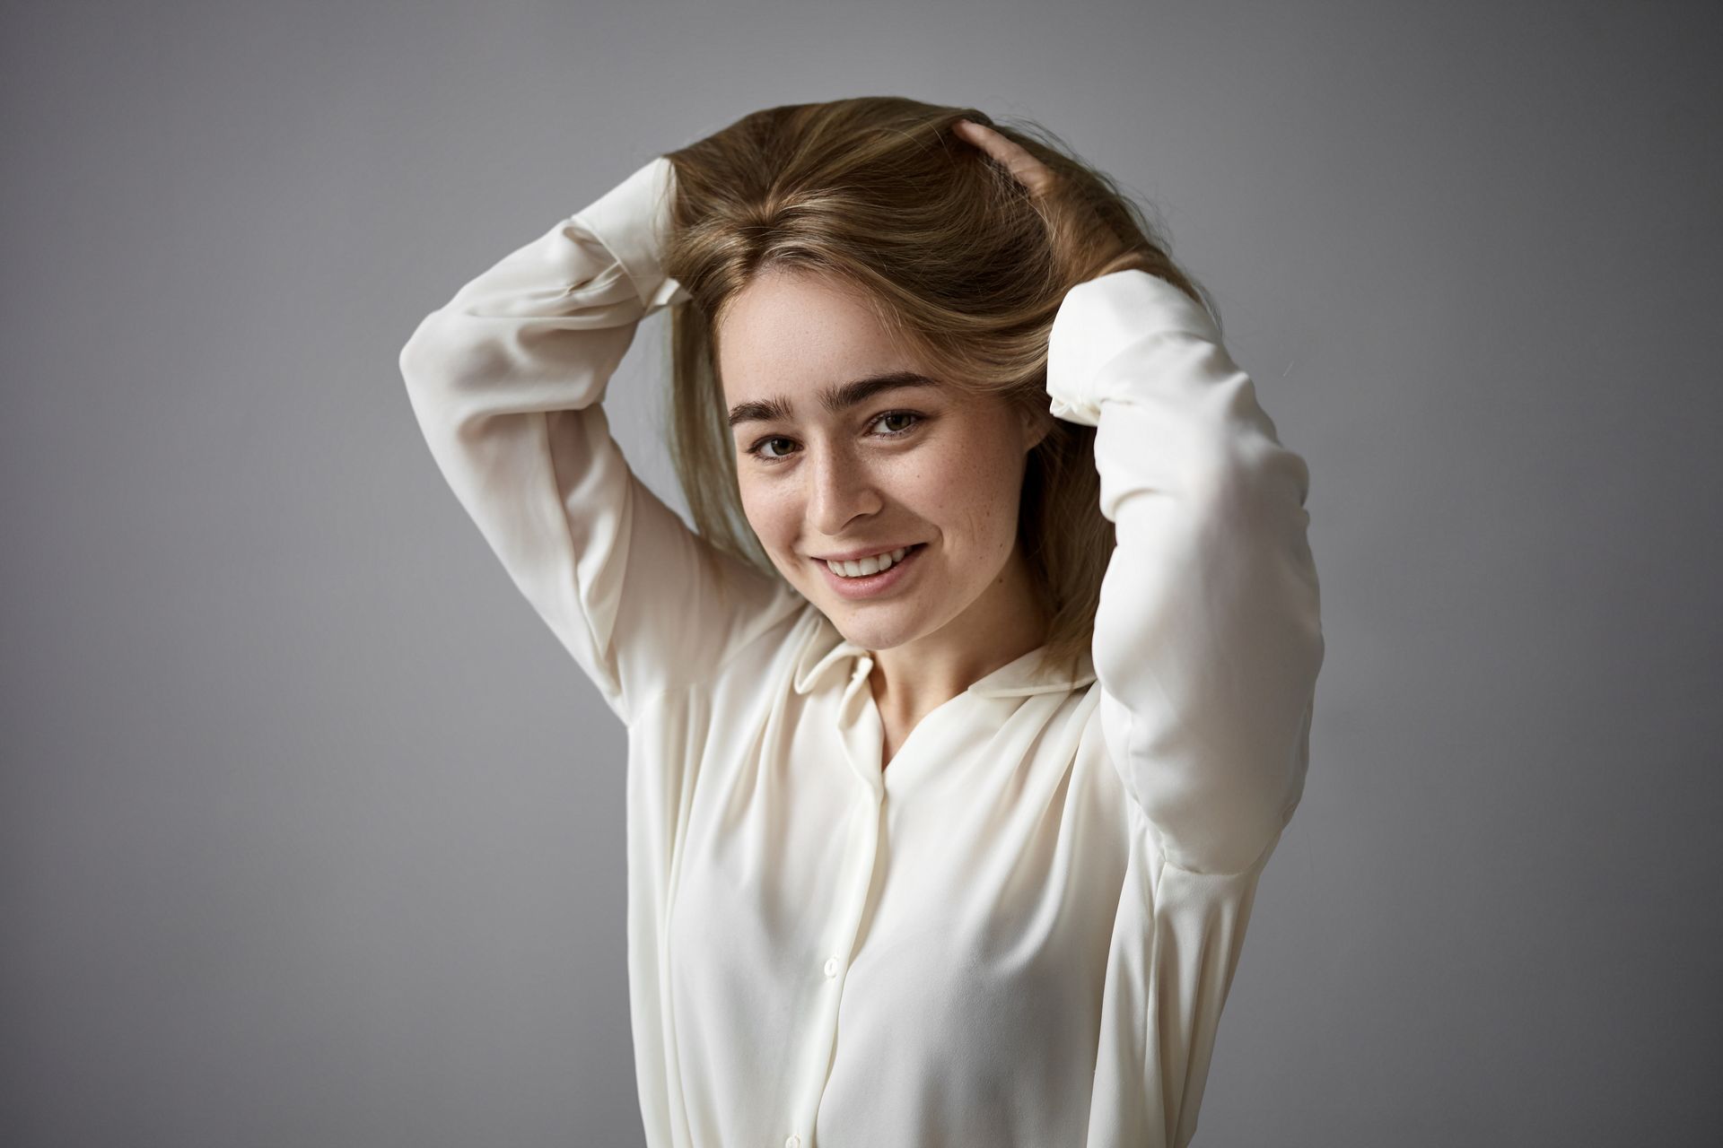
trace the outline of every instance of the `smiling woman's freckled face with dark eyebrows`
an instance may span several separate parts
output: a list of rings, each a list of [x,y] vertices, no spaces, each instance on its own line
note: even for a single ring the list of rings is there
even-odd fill
[[[1011,590],[1003,571],[1039,435],[1005,399],[924,380],[837,281],[786,268],[724,312],[718,377],[748,523],[846,639],[891,649],[977,604],[986,616],[989,592]],[[825,561],[894,551],[901,565],[872,577]]]

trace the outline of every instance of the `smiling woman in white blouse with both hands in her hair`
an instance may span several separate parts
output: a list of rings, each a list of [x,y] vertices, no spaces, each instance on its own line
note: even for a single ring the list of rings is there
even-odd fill
[[[665,306],[694,530],[600,406]],[[650,1145],[1189,1141],[1323,642],[1306,466],[1104,176],[975,110],[768,108],[401,372],[629,730]]]

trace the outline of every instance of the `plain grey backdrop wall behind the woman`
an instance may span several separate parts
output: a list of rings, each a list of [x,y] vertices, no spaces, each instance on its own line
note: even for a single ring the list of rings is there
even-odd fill
[[[7,1145],[639,1141],[624,730],[396,353],[775,103],[1030,115],[1311,463],[1328,661],[1203,1145],[1723,1115],[1706,3],[9,3]],[[612,387],[655,435],[667,327]]]

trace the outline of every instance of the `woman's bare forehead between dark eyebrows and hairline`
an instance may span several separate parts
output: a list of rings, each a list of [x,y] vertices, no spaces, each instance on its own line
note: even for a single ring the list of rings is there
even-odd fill
[[[915,368],[853,289],[805,270],[765,270],[737,291],[718,318],[717,343],[731,403]]]

